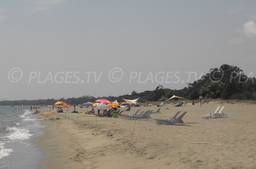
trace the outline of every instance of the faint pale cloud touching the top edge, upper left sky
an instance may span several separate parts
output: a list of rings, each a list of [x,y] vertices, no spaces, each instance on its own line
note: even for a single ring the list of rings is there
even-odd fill
[[[32,3],[34,5],[34,11],[42,11],[49,9],[49,7],[57,5],[58,3],[63,3],[66,0],[26,0],[28,3]]]

